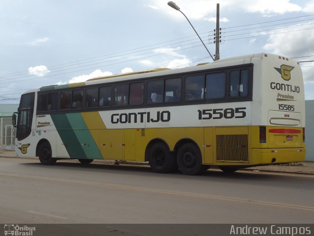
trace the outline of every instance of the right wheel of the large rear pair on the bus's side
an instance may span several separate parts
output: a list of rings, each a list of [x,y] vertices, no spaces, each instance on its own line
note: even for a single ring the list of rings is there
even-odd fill
[[[197,175],[204,170],[201,152],[194,144],[184,144],[177,158],[179,169],[184,175]]]

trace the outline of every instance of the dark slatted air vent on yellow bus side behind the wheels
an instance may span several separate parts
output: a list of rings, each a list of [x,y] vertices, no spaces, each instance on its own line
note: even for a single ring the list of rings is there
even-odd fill
[[[247,134],[216,135],[217,161],[248,162]]]

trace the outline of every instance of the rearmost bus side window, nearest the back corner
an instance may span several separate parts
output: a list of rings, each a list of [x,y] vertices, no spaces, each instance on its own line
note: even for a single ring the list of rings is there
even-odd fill
[[[230,97],[245,97],[249,88],[249,72],[247,69],[234,70],[230,73]]]

